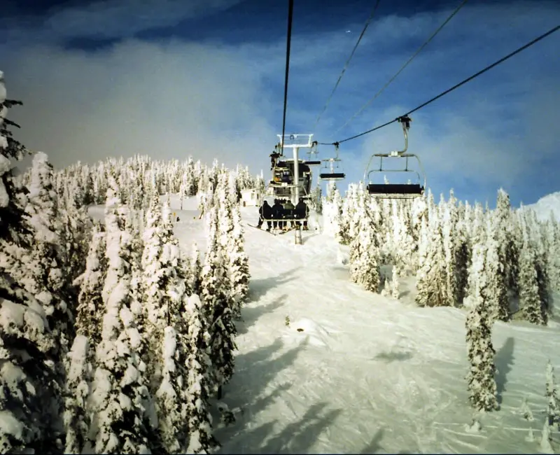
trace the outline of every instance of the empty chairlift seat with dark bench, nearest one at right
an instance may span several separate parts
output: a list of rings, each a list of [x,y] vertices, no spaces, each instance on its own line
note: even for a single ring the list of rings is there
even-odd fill
[[[402,151],[391,151],[389,153],[374,153],[370,161],[367,162],[367,168],[364,174],[364,181],[367,181],[367,193],[375,199],[414,199],[424,194],[426,188],[426,174],[423,172],[422,162],[414,153],[407,153],[408,149],[408,130],[410,128],[411,118],[402,116],[397,119],[402,125],[402,132],[405,134],[405,148]],[[379,169],[370,168],[373,158],[379,158]],[[384,168],[383,160],[387,158],[395,158],[396,160],[405,160],[404,169],[387,169]],[[416,170],[409,168],[409,158],[416,161]],[[402,161],[401,161],[402,162]],[[384,183],[373,183],[370,180],[370,175],[386,174],[386,173],[400,173],[400,174],[415,174],[416,179],[414,183],[389,183],[384,180]],[[367,180],[366,180],[367,179]]]

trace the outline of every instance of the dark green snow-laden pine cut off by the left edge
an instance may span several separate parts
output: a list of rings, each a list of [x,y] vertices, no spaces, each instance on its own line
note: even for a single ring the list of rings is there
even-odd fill
[[[9,130],[11,106],[0,71],[0,451],[62,451],[59,409],[62,398],[55,364],[60,363],[55,337],[42,305],[13,275],[14,253],[29,253],[27,226],[18,202],[9,158],[20,160],[25,146]],[[22,235],[23,233],[23,235]]]

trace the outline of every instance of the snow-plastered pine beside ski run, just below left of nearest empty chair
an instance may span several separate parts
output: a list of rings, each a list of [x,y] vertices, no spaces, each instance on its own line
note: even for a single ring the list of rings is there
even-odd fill
[[[353,226],[350,242],[350,277],[354,283],[374,293],[379,291],[379,244],[371,218],[365,207],[365,194],[358,189],[353,209]]]

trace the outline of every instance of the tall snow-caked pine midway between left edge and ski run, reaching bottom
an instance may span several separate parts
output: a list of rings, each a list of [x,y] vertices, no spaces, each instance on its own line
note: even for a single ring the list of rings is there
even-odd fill
[[[95,351],[90,395],[90,449],[106,454],[146,453],[158,437],[146,412],[151,396],[144,378],[146,365],[138,353],[142,336],[130,308],[131,239],[125,231],[128,214],[118,194],[112,179],[105,209],[108,269],[102,291],[102,341]]]

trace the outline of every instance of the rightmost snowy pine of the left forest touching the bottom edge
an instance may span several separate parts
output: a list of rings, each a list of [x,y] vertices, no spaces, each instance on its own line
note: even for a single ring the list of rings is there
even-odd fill
[[[198,295],[193,294],[185,298],[185,302],[188,326],[186,415],[189,441],[188,447],[183,450],[189,454],[204,454],[219,445],[212,434],[208,402],[213,391],[212,365],[208,356],[210,335]]]

